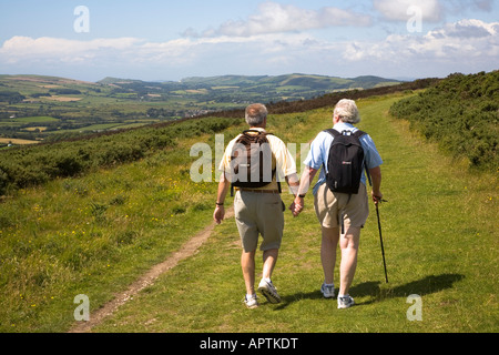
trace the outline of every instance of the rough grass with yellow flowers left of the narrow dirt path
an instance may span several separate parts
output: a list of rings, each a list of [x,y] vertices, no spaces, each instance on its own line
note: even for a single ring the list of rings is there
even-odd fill
[[[63,332],[75,295],[99,307],[203,229],[213,187],[189,179],[198,139],[3,201],[0,329]]]

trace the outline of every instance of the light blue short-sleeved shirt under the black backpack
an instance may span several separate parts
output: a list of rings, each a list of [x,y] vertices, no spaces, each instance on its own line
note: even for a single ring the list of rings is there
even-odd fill
[[[343,122],[335,124],[334,129],[338,132],[350,131],[352,133],[355,133],[358,131],[353,124]],[[323,164],[326,166],[333,140],[334,138],[329,133],[320,132],[312,142],[310,151],[303,163],[316,170],[323,168]],[[379,155],[373,139],[368,134],[360,138],[360,144],[364,148],[364,159],[365,162],[367,162],[367,169],[374,169],[383,164],[381,156]],[[320,169],[318,181],[314,186],[314,195],[317,193],[318,187],[326,182],[326,172],[324,171],[326,169],[327,166]],[[364,173],[361,174],[360,182],[366,185],[366,175]]]

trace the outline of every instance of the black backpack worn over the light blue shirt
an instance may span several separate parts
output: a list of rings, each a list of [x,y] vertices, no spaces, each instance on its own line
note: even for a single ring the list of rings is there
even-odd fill
[[[363,174],[364,149],[360,138],[366,133],[329,129],[325,132],[334,136],[327,160],[326,184],[333,192],[357,194]],[[370,175],[366,168],[370,183]]]

